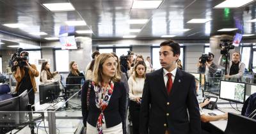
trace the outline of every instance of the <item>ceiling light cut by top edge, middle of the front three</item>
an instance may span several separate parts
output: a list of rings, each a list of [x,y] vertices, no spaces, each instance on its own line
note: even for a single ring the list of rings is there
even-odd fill
[[[133,1],[132,8],[151,9],[158,8],[163,1]]]

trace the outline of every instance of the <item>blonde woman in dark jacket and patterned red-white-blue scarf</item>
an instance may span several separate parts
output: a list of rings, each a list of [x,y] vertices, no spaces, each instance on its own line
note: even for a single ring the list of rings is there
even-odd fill
[[[112,54],[100,54],[95,60],[93,80],[82,87],[82,114],[86,133],[126,133],[124,83],[116,71]]]

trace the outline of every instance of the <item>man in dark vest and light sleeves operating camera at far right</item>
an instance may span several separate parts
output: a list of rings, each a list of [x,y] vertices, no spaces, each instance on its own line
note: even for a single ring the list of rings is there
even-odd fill
[[[237,82],[242,81],[242,77],[245,70],[245,64],[240,62],[240,53],[234,52],[232,54],[232,61],[229,61],[227,66],[227,75],[225,75],[225,78],[228,80],[233,80]],[[218,61],[218,64],[220,66],[225,67],[225,63],[223,63],[221,60],[223,59],[223,55],[221,54],[220,59]]]

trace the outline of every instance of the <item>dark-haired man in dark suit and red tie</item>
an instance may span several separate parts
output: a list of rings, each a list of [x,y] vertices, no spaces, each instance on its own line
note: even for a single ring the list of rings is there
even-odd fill
[[[140,111],[141,134],[199,134],[200,113],[195,77],[179,70],[180,45],[172,40],[160,44],[162,68],[147,73]]]

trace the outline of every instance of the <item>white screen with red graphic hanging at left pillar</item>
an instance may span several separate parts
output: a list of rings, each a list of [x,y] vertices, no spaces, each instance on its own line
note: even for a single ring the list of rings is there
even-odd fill
[[[60,37],[61,49],[77,49],[75,36]]]

